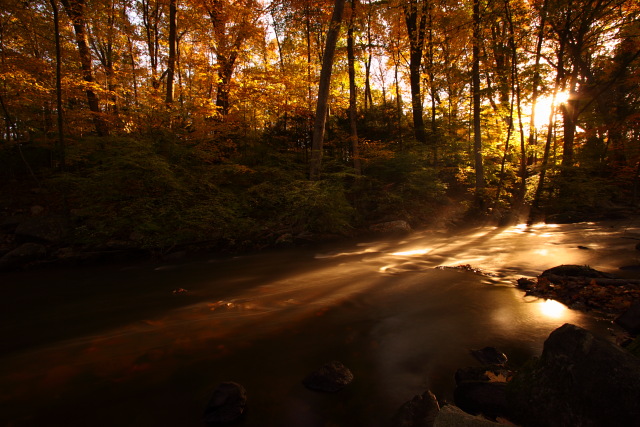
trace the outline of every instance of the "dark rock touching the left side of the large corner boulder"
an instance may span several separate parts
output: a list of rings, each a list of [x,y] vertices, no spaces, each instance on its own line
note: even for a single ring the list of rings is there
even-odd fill
[[[460,409],[470,414],[491,418],[510,416],[503,382],[462,382],[454,390],[453,398]]]

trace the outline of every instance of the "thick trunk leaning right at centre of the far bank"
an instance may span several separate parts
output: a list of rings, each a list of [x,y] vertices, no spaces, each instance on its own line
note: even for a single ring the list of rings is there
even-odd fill
[[[340,35],[340,24],[345,0],[335,0],[331,23],[327,31],[327,42],[322,56],[322,69],[320,70],[320,85],[318,87],[318,102],[316,105],[316,118],[313,125],[313,140],[311,146],[311,167],[309,176],[312,180],[320,177],[322,165],[322,145],[324,141],[324,127],[327,120],[327,106],[329,104],[329,87],[331,84],[331,70],[333,68],[333,55],[336,43]]]

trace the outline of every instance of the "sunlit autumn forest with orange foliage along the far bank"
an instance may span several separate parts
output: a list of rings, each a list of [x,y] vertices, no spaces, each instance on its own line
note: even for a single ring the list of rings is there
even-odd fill
[[[0,217],[255,249],[638,201],[636,0],[4,0]],[[446,216],[445,215],[445,216]]]

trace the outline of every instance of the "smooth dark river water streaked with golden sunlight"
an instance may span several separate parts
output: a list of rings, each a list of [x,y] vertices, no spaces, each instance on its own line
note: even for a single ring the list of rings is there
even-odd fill
[[[517,368],[566,322],[610,337],[610,321],[514,284],[560,264],[638,277],[638,239],[635,220],[538,224],[5,274],[0,424],[202,426],[215,386],[236,381],[239,425],[386,426],[426,389],[452,401],[470,349]],[[465,264],[484,274],[436,268]],[[307,390],[331,360],[353,383]]]

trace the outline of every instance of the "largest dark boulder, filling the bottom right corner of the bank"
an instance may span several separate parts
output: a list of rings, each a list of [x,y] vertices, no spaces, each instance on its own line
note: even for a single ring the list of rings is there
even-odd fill
[[[508,399],[527,426],[640,425],[640,359],[565,324],[514,376]]]

